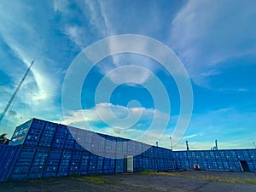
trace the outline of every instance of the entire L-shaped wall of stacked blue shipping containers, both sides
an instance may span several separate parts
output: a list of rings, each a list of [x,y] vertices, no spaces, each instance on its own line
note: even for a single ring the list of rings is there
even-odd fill
[[[0,181],[126,172],[126,157],[133,157],[135,172],[170,172],[195,165],[203,170],[256,172],[256,149],[172,152],[41,119],[18,126],[12,140],[14,146],[0,146]]]

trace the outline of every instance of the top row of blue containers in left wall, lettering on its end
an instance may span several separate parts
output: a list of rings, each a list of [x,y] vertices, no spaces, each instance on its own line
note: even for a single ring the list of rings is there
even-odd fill
[[[151,146],[121,137],[112,137],[93,131],[82,130],[67,125],[58,125],[41,119],[32,119],[16,128],[11,145],[32,148],[89,150],[116,158],[125,155],[137,155]],[[170,151],[160,149],[161,151]],[[150,151],[150,150],[149,150]],[[171,151],[170,151],[171,152]]]

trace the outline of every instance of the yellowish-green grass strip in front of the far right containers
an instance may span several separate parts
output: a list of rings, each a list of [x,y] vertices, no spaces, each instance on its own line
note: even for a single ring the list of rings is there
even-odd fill
[[[144,174],[152,175],[166,175],[171,177],[189,177],[189,178],[199,178],[207,181],[218,181],[224,183],[245,183],[245,184],[256,184],[256,178],[238,178],[238,177],[215,177],[215,176],[196,176],[196,175],[184,175],[177,172],[143,172]]]

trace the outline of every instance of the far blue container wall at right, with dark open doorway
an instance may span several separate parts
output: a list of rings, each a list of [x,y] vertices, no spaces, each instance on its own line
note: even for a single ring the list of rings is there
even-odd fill
[[[256,149],[187,150],[172,153],[177,169],[256,172]]]

